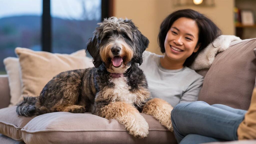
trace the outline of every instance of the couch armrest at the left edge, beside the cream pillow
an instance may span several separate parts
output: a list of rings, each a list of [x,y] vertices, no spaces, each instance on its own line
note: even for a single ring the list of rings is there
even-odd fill
[[[8,107],[10,98],[8,75],[0,75],[0,109]]]

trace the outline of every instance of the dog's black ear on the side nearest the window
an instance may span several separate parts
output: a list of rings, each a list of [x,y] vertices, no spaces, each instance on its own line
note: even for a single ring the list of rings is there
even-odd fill
[[[89,39],[86,50],[93,58],[92,63],[96,68],[98,68],[102,64],[102,60],[100,58],[100,48],[98,38],[96,36]]]

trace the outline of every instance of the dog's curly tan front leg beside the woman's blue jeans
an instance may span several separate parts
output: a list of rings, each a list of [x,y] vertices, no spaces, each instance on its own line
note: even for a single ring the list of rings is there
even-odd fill
[[[154,98],[149,100],[143,107],[142,112],[147,115],[152,115],[159,120],[159,123],[167,127],[170,131],[173,131],[171,121],[171,111],[173,107],[165,100]]]

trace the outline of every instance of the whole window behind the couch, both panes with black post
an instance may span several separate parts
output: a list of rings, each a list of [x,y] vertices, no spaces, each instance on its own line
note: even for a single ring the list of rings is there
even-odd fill
[[[0,0],[0,74],[16,47],[67,54],[86,48],[109,6],[112,0]]]

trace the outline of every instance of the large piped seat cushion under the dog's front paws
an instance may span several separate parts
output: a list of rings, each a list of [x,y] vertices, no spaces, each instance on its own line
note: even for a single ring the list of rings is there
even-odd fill
[[[141,115],[149,124],[144,139],[130,135],[115,119],[69,112],[37,116],[22,129],[25,143],[176,143],[172,132],[152,116]]]

